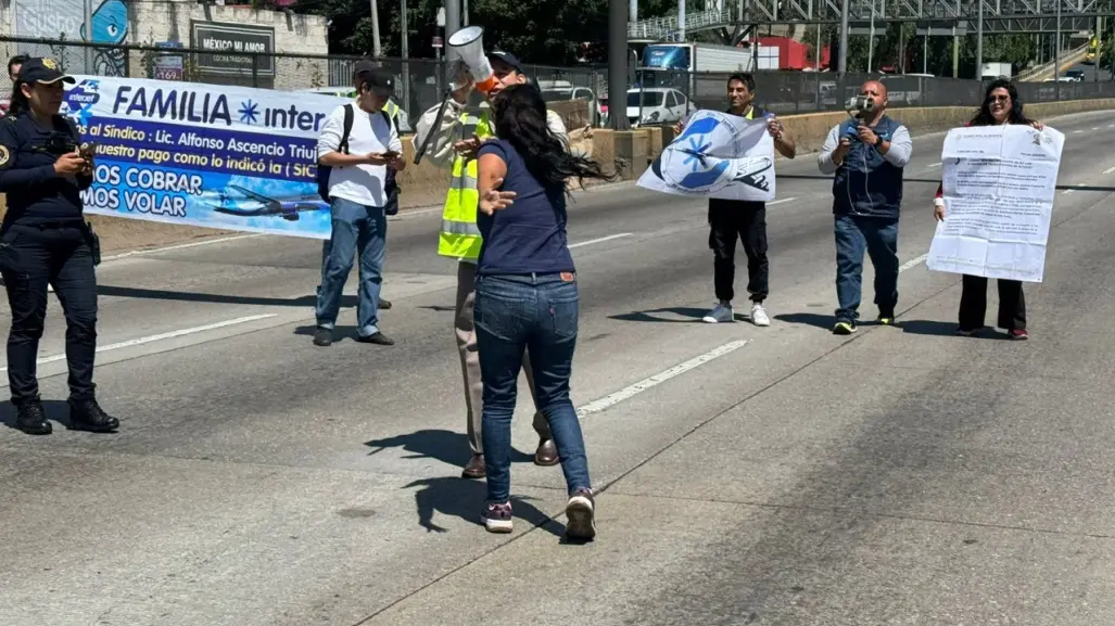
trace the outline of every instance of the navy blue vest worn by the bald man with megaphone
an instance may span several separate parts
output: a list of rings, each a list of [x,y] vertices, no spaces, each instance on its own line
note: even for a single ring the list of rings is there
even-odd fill
[[[883,116],[872,130],[890,140],[902,126]],[[855,137],[857,119],[840,125],[840,137],[853,137],[852,147],[833,178],[833,213],[898,219],[902,204],[902,168],[891,165],[879,148]]]

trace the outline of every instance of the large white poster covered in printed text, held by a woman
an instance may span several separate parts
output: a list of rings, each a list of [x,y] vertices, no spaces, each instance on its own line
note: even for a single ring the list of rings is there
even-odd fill
[[[953,128],[944,138],[944,221],[925,266],[1040,283],[1065,135],[1024,125]]]

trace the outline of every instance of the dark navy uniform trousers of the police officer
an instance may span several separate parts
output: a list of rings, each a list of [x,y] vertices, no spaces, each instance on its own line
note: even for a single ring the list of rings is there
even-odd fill
[[[54,285],[66,315],[66,362],[70,399],[94,398],[93,363],[97,349],[97,278],[88,232],[80,222],[10,226],[0,254],[11,305],[8,333],[8,384],[12,402],[39,398],[36,360],[47,316],[47,285]]]

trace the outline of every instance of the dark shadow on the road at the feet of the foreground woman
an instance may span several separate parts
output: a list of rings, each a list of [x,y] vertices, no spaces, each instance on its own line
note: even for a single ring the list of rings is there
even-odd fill
[[[419,487],[415,492],[418,509],[418,525],[429,532],[448,532],[449,529],[434,524],[434,513],[458,517],[483,527],[481,511],[487,497],[487,486],[481,481],[455,477],[426,478],[416,480],[404,489]],[[565,528],[542,512],[529,500],[533,498],[511,497],[512,515],[531,526],[537,526],[551,535],[563,538]]]

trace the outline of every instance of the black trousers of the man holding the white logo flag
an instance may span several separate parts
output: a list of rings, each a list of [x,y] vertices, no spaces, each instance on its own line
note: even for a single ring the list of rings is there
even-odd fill
[[[710,198],[708,200],[708,245],[712,248],[716,297],[725,302],[735,295],[736,242],[743,239],[747,254],[747,292],[753,302],[766,300],[769,291],[767,263],[766,204]]]

